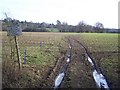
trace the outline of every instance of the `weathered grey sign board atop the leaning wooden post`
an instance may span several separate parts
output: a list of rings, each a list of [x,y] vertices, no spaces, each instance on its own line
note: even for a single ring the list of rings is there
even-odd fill
[[[21,25],[18,22],[13,22],[11,26],[7,27],[8,36],[19,36],[22,34]]]

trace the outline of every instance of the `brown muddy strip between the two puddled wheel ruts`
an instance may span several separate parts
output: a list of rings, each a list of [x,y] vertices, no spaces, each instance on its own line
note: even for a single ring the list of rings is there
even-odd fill
[[[85,62],[83,49],[73,39],[70,37],[68,39],[72,46],[73,57],[61,88],[96,88],[92,78],[92,67]]]

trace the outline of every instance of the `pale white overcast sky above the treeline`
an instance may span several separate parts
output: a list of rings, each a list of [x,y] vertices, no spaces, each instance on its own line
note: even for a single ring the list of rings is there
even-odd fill
[[[119,0],[1,0],[0,18],[6,12],[20,21],[47,22],[56,20],[77,25],[80,21],[118,28]]]

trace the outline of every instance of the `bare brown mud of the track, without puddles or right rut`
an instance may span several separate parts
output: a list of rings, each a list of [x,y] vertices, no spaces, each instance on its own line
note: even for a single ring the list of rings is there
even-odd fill
[[[92,76],[94,68],[86,60],[86,48],[83,48],[84,46],[74,37],[65,37],[65,42],[68,47],[63,56],[56,61],[54,67],[48,70],[41,87],[53,89],[56,77],[65,71],[59,88],[97,88]],[[70,56],[69,63],[66,62],[68,56]],[[97,68],[97,66],[95,67]]]

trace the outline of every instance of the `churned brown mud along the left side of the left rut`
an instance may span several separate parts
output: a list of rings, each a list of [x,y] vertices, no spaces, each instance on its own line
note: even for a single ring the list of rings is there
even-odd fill
[[[58,60],[56,60],[54,67],[48,70],[48,73],[46,73],[46,75],[43,77],[43,81],[40,84],[42,88],[54,88],[56,77],[68,66],[66,63],[67,53],[68,50],[66,50],[66,53],[64,52],[63,55]]]

